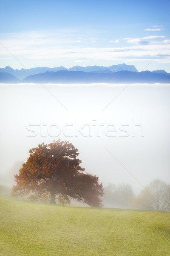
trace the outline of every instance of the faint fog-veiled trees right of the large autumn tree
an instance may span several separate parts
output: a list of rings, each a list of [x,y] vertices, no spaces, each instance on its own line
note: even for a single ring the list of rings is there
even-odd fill
[[[128,183],[120,183],[118,186],[108,183],[104,193],[103,201],[107,203],[136,209],[170,211],[170,184],[161,179],[152,180],[137,196],[134,196],[133,189]]]

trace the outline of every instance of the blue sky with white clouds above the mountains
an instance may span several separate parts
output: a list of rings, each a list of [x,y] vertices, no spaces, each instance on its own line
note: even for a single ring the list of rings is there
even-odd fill
[[[126,63],[170,72],[169,10],[164,0],[1,0],[0,67]]]

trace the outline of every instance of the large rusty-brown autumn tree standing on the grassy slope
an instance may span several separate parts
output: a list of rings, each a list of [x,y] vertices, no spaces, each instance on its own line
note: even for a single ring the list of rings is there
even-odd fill
[[[79,152],[68,141],[39,144],[29,150],[29,157],[15,175],[12,196],[28,195],[30,200],[45,198],[55,204],[70,203],[71,198],[90,206],[101,206],[102,183],[98,177],[85,174],[77,158]]]

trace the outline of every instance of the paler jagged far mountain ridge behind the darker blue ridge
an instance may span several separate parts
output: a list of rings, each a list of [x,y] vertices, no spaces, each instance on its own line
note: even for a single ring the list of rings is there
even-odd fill
[[[93,71],[104,71],[104,70],[110,70],[112,72],[122,71],[122,70],[128,70],[132,72],[138,72],[136,67],[133,65],[126,65],[126,64],[118,64],[113,65],[110,67],[104,67],[104,66],[87,66],[87,67],[81,67],[81,66],[74,66],[70,68],[65,67],[34,67],[30,69],[13,69],[11,67],[4,67],[0,68],[0,73],[10,73],[11,75],[15,76],[19,80],[23,80],[27,76],[45,73],[45,72],[57,72],[60,70],[69,70],[69,71],[84,71],[84,72],[93,72]]]

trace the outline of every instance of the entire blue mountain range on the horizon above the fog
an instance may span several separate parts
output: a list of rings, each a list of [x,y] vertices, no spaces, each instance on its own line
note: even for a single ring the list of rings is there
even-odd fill
[[[170,83],[170,73],[164,70],[138,72],[136,67],[118,64],[110,67],[75,66],[36,67],[29,70],[0,68],[0,83]]]

